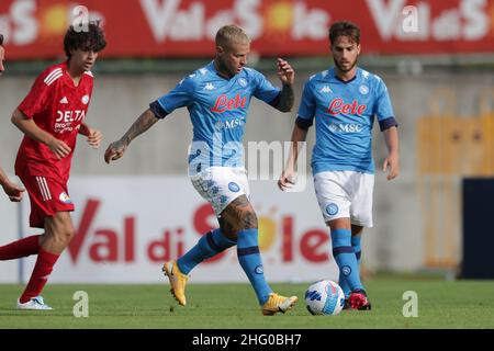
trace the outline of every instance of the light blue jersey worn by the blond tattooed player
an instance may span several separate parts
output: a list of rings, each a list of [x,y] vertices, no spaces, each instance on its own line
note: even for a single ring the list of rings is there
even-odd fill
[[[179,107],[189,110],[193,125],[190,171],[200,172],[212,166],[244,167],[242,140],[250,99],[256,97],[271,103],[279,93],[280,89],[255,69],[244,68],[226,79],[217,73],[212,61],[181,80],[155,106],[151,104],[151,110],[158,117]]]

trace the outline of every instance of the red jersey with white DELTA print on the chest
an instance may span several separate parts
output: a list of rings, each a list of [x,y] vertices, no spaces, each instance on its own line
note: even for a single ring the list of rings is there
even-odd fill
[[[90,71],[82,75],[76,87],[67,72],[67,63],[50,66],[37,77],[18,109],[40,128],[67,144],[71,152],[58,159],[46,145],[24,136],[15,160],[16,174],[27,168],[32,176],[68,181],[77,134],[88,112],[92,87]]]

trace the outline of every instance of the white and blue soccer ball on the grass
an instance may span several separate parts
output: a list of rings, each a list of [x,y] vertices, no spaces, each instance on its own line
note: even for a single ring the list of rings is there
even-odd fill
[[[317,281],[305,291],[305,306],[312,315],[337,315],[344,305],[345,294],[333,281]]]

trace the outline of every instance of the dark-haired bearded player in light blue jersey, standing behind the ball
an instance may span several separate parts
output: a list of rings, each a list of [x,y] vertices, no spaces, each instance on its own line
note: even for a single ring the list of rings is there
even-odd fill
[[[287,190],[294,183],[299,143],[305,141],[315,120],[312,169],[316,197],[330,228],[346,307],[363,310],[371,308],[359,262],[362,229],[372,227],[372,127],[377,117],[389,150],[382,169],[389,169],[388,180],[392,180],[400,173],[397,124],[382,79],[357,67],[359,27],[336,22],[329,29],[329,42],[335,66],[305,83],[291,155],[278,185]]]

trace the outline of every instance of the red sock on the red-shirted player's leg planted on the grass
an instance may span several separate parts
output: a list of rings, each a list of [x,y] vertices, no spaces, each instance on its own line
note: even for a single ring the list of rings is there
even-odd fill
[[[34,265],[33,274],[31,275],[30,282],[22,294],[20,302],[24,304],[31,298],[36,297],[42,292],[48,276],[53,271],[55,262],[60,256],[55,253],[49,253],[40,247],[40,252],[37,253],[36,264]]]

